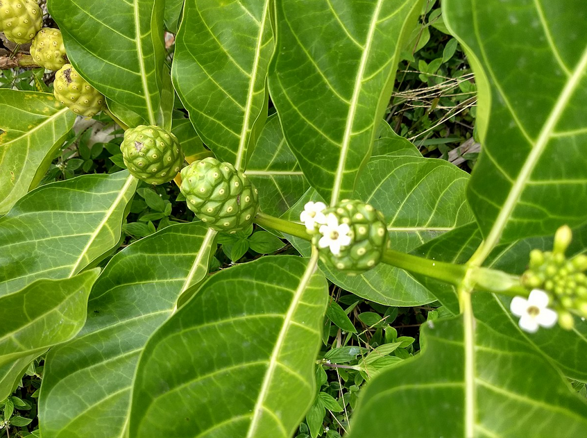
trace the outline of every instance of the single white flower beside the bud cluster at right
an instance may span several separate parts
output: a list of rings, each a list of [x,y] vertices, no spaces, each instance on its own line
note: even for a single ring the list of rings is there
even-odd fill
[[[516,296],[511,300],[509,308],[513,314],[520,317],[520,328],[534,333],[538,326],[550,328],[556,323],[559,317],[554,310],[547,308],[548,295],[540,289],[530,292],[528,299]]]

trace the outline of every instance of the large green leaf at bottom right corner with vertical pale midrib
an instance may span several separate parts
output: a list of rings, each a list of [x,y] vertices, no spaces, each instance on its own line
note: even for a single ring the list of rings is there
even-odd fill
[[[364,389],[350,437],[584,436],[587,404],[559,371],[524,342],[482,321],[476,326],[473,351],[466,351],[460,317],[429,323],[423,353],[382,371]],[[475,355],[471,380],[468,354]],[[466,417],[467,404],[473,418]]]

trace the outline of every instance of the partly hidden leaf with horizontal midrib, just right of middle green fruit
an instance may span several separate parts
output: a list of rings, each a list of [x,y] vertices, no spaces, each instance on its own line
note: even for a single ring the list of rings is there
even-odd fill
[[[285,142],[277,115],[267,119],[246,174],[259,190],[262,212],[271,216],[284,214],[308,189],[309,183]]]

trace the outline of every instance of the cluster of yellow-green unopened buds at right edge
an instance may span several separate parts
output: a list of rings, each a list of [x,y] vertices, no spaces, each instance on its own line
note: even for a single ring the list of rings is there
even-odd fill
[[[587,317],[587,255],[567,258],[565,251],[572,239],[568,226],[557,230],[552,251],[535,249],[530,253],[522,284],[529,289],[542,289],[559,314],[559,323],[572,328],[572,313]]]

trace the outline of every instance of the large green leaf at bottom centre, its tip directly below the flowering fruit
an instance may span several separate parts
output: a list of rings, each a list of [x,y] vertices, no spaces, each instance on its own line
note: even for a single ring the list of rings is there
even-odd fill
[[[149,339],[130,436],[291,437],[316,396],[326,302],[313,260],[269,256],[214,274]]]

